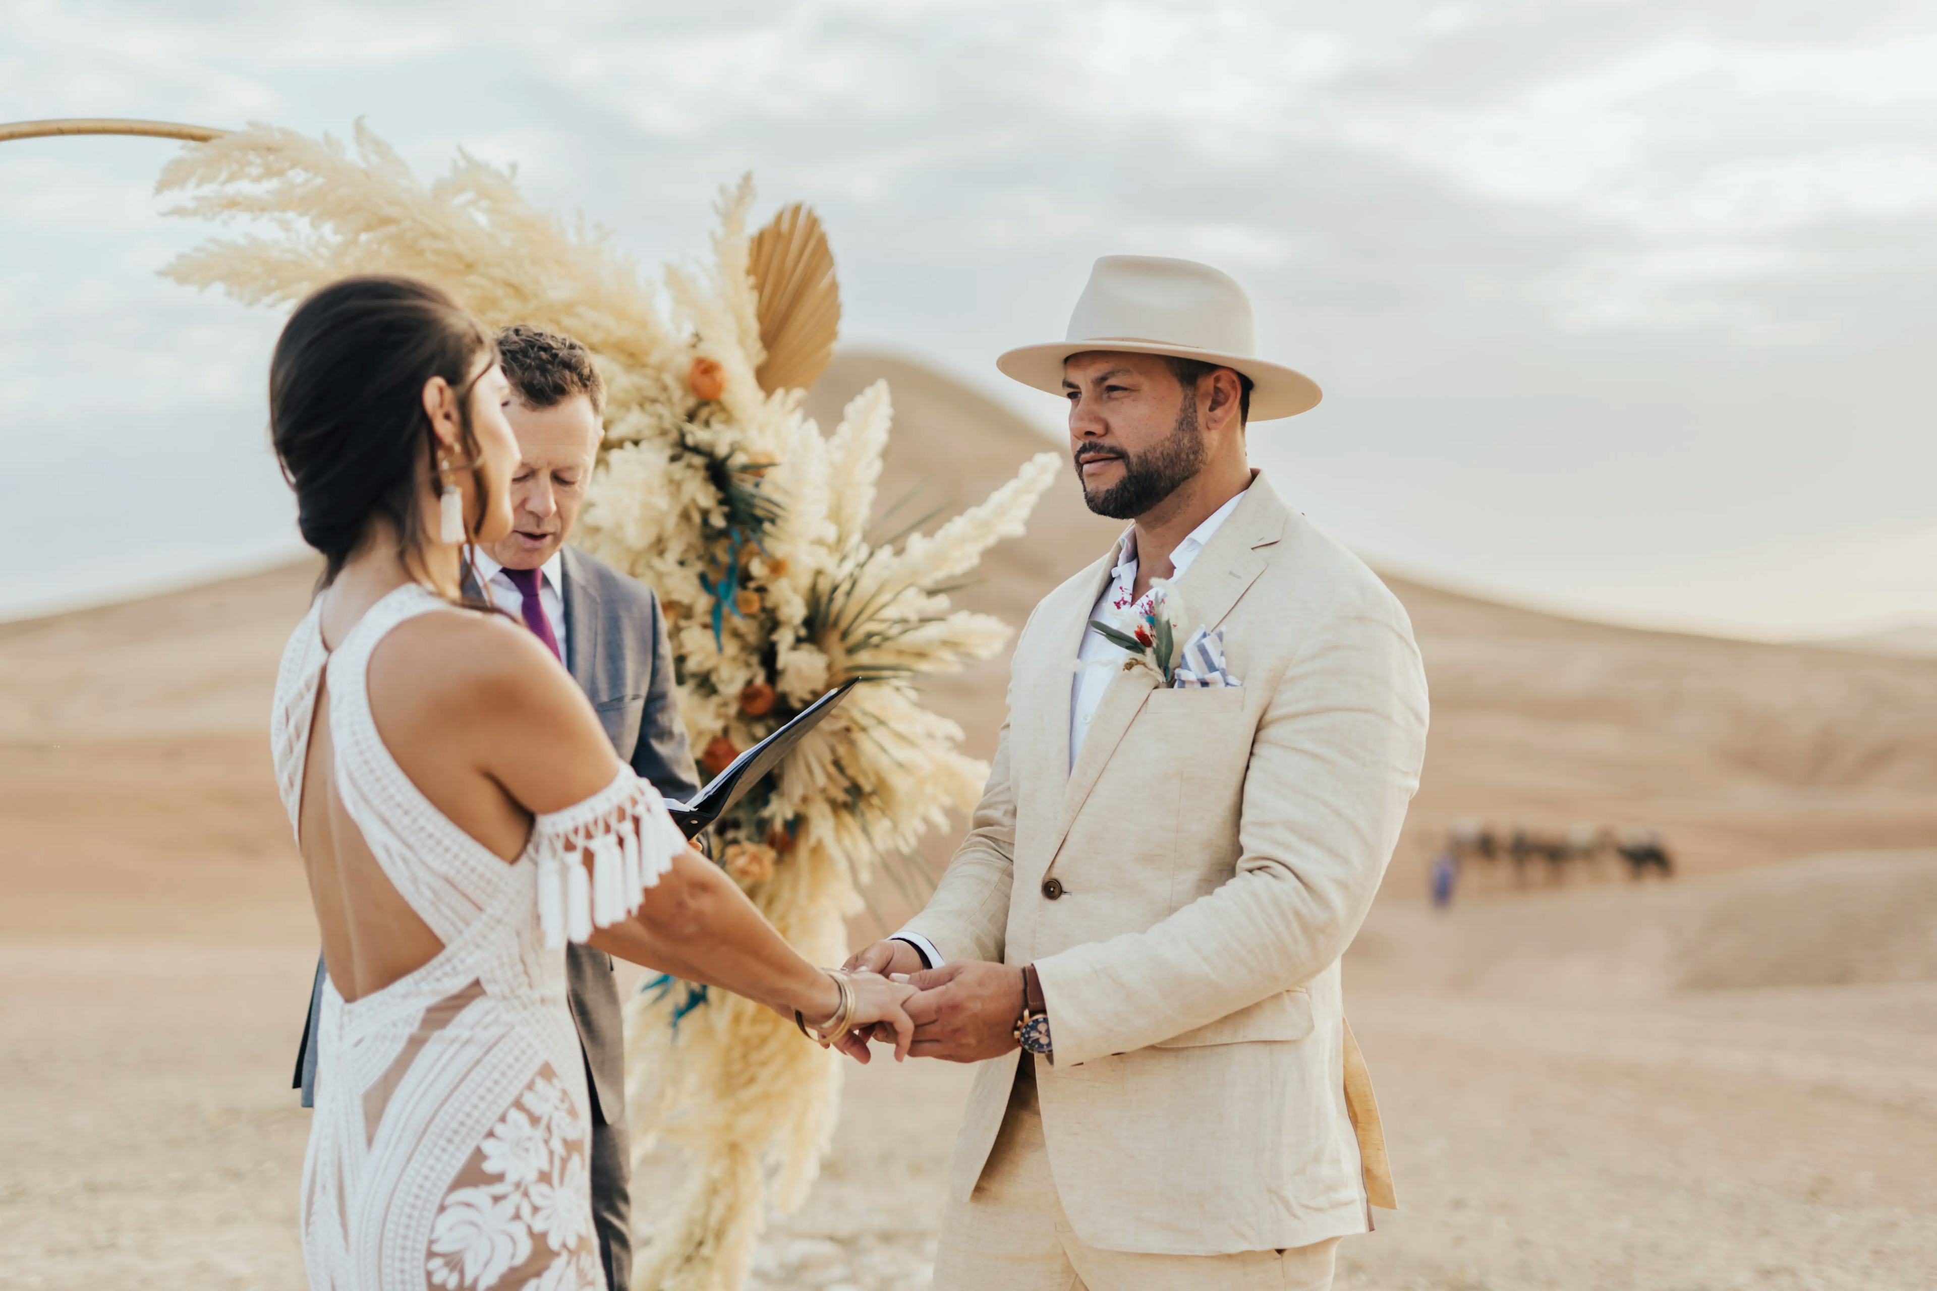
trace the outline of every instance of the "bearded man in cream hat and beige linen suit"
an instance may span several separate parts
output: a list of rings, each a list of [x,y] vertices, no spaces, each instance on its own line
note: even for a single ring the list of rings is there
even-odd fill
[[[967,840],[852,960],[916,974],[916,1053],[982,1065],[936,1287],[1329,1287],[1393,1204],[1338,956],[1418,788],[1412,627],[1249,468],[1245,422],[1319,389],[1226,275],[1104,257],[998,366],[1069,401],[1085,499],[1133,525],[1036,606]],[[1135,641],[1158,579],[1182,658]]]

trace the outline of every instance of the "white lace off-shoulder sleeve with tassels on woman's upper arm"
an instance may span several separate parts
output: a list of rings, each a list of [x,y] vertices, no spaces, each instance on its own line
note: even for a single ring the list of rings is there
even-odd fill
[[[538,925],[552,950],[630,917],[672,869],[686,834],[659,792],[630,766],[606,788],[533,823]]]

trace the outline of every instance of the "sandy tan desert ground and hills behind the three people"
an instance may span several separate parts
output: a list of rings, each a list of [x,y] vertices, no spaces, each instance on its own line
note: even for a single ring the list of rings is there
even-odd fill
[[[817,406],[877,372],[891,480],[934,501],[1036,445],[893,360],[843,360]],[[1063,484],[978,604],[1019,621],[1110,540]],[[316,941],[263,718],[310,577],[0,625],[8,1289],[302,1285],[289,1074]],[[1937,1285],[1937,662],[1395,590],[1433,736],[1346,981],[1402,1210],[1338,1285]],[[934,693],[984,751],[999,683],[998,662]],[[1683,873],[1430,910],[1424,857],[1468,817],[1658,825]],[[850,1068],[755,1283],[924,1285],[967,1076]],[[643,1217],[676,1169],[643,1171]]]

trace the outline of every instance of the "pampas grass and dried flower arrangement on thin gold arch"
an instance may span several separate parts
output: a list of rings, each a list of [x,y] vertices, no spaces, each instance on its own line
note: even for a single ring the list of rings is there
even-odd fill
[[[986,765],[959,751],[961,730],[914,683],[1005,645],[1005,623],[951,610],[949,590],[1023,532],[1056,455],[930,534],[874,534],[887,385],[858,395],[833,432],[802,414],[841,317],[833,255],[800,205],[750,234],[750,180],[723,192],[713,263],[666,269],[662,310],[604,232],[535,209],[511,170],[465,153],[424,184],[362,124],[354,147],[273,126],[0,126],[0,141],[52,134],[194,141],[161,172],[159,192],[178,195],[170,213],[244,230],[172,261],[165,273],[182,285],[287,306],[343,275],[405,273],[492,325],[533,323],[593,350],[606,426],[577,542],[662,598],[705,774],[829,687],[864,681],[717,826],[721,863],[759,910],[810,960],[839,962],[870,875],[980,794]],[[692,1169],[633,1285],[738,1287],[765,1204],[792,1210],[819,1171],[841,1074],[757,1005],[651,985],[626,1022],[635,1148],[664,1136]]]

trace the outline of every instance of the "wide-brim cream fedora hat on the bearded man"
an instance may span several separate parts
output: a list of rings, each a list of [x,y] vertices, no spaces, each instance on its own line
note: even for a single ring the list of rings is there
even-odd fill
[[[1317,381],[1257,356],[1251,298],[1238,281],[1195,259],[1104,255],[1069,315],[1069,333],[1025,345],[996,360],[1023,385],[1063,393],[1063,360],[1089,350],[1176,354],[1251,377],[1251,420],[1269,422],[1315,408]]]

